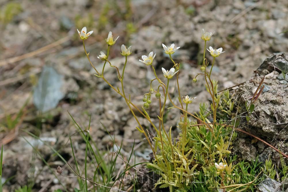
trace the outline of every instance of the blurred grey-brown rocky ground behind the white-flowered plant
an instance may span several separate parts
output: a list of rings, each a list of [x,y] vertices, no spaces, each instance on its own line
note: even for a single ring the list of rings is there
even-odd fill
[[[139,107],[143,94],[149,92],[149,80],[154,78],[151,69],[139,62],[141,56],[156,53],[153,65],[159,77],[163,77],[162,67],[173,66],[162,43],[181,47],[173,59],[181,64],[182,94],[197,96],[189,109],[192,112],[198,111],[199,102],[208,101],[203,79],[199,76],[198,82],[192,83],[203,58],[202,28],[215,31],[207,46],[223,47],[225,51],[213,68],[219,90],[249,80],[269,54],[288,51],[287,0],[1,0],[0,7],[0,143],[4,145],[4,191],[14,191],[29,183],[33,183],[35,191],[63,188],[52,173],[64,163],[35,136],[69,161],[72,155],[68,141],[73,134],[76,156],[83,162],[86,145],[75,134],[78,129],[69,113],[84,128],[91,115],[90,134],[103,154],[121,143],[123,151],[128,152],[135,140],[136,161],[150,158],[147,141],[135,129],[137,123],[124,100],[93,75],[76,28],[86,26],[88,31],[94,30],[86,40],[86,49],[99,71],[103,62],[97,56],[100,51],[107,52],[105,38],[109,31],[115,37],[120,36],[109,54],[111,63],[120,71],[125,60],[120,47],[132,45],[124,83],[126,93],[131,94]],[[211,62],[210,55],[206,58]],[[115,87],[121,86],[110,66],[105,68],[105,78]],[[174,80],[171,85],[170,93],[177,103]],[[157,121],[157,110],[153,98],[149,108],[153,121]],[[175,136],[179,114],[174,109],[165,117]],[[149,130],[149,123],[140,115],[139,119]],[[107,132],[113,135],[116,144]],[[121,166],[120,162],[117,169]],[[68,191],[73,191],[76,179],[60,177],[60,180]]]

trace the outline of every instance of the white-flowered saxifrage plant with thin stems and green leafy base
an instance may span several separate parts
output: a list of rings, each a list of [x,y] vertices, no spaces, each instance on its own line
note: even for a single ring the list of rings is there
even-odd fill
[[[170,70],[162,68],[165,80],[162,80],[157,76],[156,70],[152,65],[156,56],[153,51],[147,56],[143,55],[142,60],[139,60],[147,66],[150,66],[155,75],[155,78],[151,79],[150,81],[149,91],[144,94],[143,106],[141,109],[139,109],[132,102],[130,95],[124,92],[124,72],[127,65],[127,57],[132,53],[131,46],[121,46],[121,55],[125,57],[125,63],[121,73],[118,67],[112,65],[108,59],[110,47],[116,43],[119,37],[118,36],[115,38],[113,37],[112,32],[109,32],[106,39],[106,43],[108,44],[107,54],[101,51],[100,55],[98,56],[99,59],[104,61],[102,72],[99,72],[92,64],[89,57],[90,53],[87,53],[85,48],[85,40],[93,33],[93,31],[87,33],[86,27],[83,27],[81,31],[77,31],[80,39],[83,40],[83,47],[88,61],[96,71],[95,76],[103,79],[103,81],[105,81],[115,92],[124,98],[128,108],[137,121],[137,130],[143,133],[147,139],[147,142],[153,151],[154,159],[152,163],[147,163],[146,165],[151,170],[155,170],[160,174],[160,178],[155,183],[156,186],[159,186],[160,188],[168,187],[170,192],[206,192],[218,190],[225,192],[226,189],[229,191],[245,191],[247,189],[250,191],[255,190],[255,185],[257,182],[259,183],[257,178],[262,173],[262,170],[259,168],[261,163],[255,161],[252,164],[247,164],[245,161],[242,161],[233,165],[233,161],[236,160],[236,155],[232,156],[230,150],[233,147],[232,142],[236,138],[237,134],[232,132],[232,129],[234,129],[233,126],[223,123],[223,117],[221,117],[221,115],[218,115],[217,117],[219,111],[231,116],[231,111],[234,108],[234,102],[232,102],[228,90],[218,94],[218,81],[211,79],[211,73],[213,71],[213,66],[215,65],[215,60],[218,56],[224,53],[222,48],[214,49],[210,46],[209,49],[207,49],[210,55],[213,57],[210,70],[207,68],[207,66],[209,66],[209,62],[207,62],[207,59],[205,58],[206,44],[207,41],[210,41],[214,32],[208,33],[202,29],[201,38],[204,41],[203,62],[200,68],[202,73],[198,73],[192,80],[193,83],[196,83],[199,75],[204,77],[206,90],[209,92],[212,100],[211,111],[207,110],[207,105],[200,104],[199,114],[194,115],[187,111],[188,105],[194,98],[188,95],[182,96],[178,80],[181,69],[180,63],[176,63],[172,58],[172,55],[180,47],[176,47],[174,43],[170,46],[162,44],[165,54],[169,55],[172,62],[172,68]],[[117,73],[115,75],[117,75],[118,80],[121,82],[121,88],[114,87],[105,78],[104,69],[107,63],[116,69]],[[180,106],[173,102],[168,92],[169,82],[173,77],[176,78],[177,82],[178,100]],[[158,82],[158,86],[156,88],[153,88],[152,86],[153,81]],[[151,96],[153,94],[155,94],[155,97],[159,100],[158,125],[151,121],[149,113],[146,111],[151,104]],[[181,130],[179,140],[176,140],[171,136],[172,125],[169,125],[170,129],[168,131],[165,129],[163,117],[165,113],[167,113],[167,100],[170,100],[170,103],[173,105],[173,107],[169,107],[168,109],[176,108],[181,111],[181,116],[177,126]],[[139,122],[133,109],[145,117],[154,128],[156,135],[152,140]],[[211,118],[213,119],[212,122],[209,121],[210,114]],[[235,129],[239,130],[237,128]],[[268,144],[267,142],[265,143]],[[281,154],[285,155],[283,153]],[[287,155],[285,155],[285,157],[287,157]],[[272,173],[270,171],[269,173],[270,175],[274,175],[274,172]],[[247,178],[247,175],[251,177]]]

